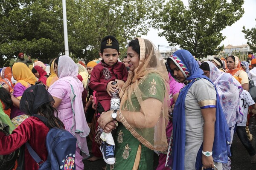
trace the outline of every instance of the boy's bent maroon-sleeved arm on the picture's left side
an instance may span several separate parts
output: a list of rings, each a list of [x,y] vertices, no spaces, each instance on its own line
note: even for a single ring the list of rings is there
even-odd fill
[[[91,73],[89,87],[94,91],[106,91],[108,82],[100,82],[101,72],[99,68],[94,67]]]

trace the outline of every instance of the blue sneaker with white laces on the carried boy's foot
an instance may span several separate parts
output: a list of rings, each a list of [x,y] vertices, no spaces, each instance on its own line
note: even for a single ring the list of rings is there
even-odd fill
[[[114,154],[115,146],[102,142],[99,150],[102,152],[103,159],[107,164],[114,164],[116,162]]]

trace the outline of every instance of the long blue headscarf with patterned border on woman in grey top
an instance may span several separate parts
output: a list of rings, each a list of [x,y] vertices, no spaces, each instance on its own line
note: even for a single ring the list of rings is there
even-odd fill
[[[198,62],[194,59],[192,54],[190,54],[187,50],[178,50],[174,54],[175,57],[169,57],[167,59],[167,63],[172,61],[176,61],[175,63],[179,63],[177,59],[182,62],[190,76],[186,77],[184,88],[180,91],[180,94],[175,103],[175,108],[173,111],[173,164],[172,168],[174,170],[183,170],[184,169],[184,156],[185,156],[185,140],[186,140],[186,120],[185,120],[185,98],[186,94],[191,87],[191,85],[197,81],[198,79],[207,79],[209,82],[211,80],[204,76],[204,72],[199,68]],[[177,64],[176,64],[177,65]],[[172,77],[173,71],[170,70]],[[175,78],[175,77],[174,77]],[[211,82],[212,83],[212,82]],[[216,89],[215,89],[216,90]],[[216,91],[217,93],[217,91]],[[227,156],[230,155],[230,147],[227,142],[230,141],[230,131],[227,125],[227,121],[225,119],[223,110],[221,108],[221,103],[219,101],[218,93],[216,94],[216,121],[215,121],[215,136],[212,147],[212,157],[215,162],[227,163]],[[200,150],[202,151],[202,146]],[[197,157],[196,161],[196,169],[202,168],[202,160],[201,155]]]

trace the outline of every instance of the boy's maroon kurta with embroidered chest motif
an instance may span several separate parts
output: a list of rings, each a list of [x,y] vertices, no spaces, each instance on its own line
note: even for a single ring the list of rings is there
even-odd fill
[[[115,81],[115,79],[126,82],[127,77],[128,71],[124,63],[116,62],[115,65],[109,66],[106,65],[102,59],[102,61],[93,68],[89,83],[89,87],[96,91],[96,106],[98,102],[100,102],[105,111],[110,110],[111,96],[109,96],[106,91],[108,82]]]

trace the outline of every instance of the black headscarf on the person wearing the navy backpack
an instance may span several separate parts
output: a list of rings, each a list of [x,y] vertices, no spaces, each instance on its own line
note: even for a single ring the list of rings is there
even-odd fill
[[[20,99],[20,111],[27,115],[37,114],[38,108],[47,102],[52,102],[53,105],[54,99],[44,85],[32,85],[24,91]]]

